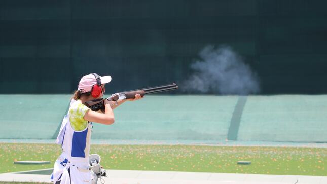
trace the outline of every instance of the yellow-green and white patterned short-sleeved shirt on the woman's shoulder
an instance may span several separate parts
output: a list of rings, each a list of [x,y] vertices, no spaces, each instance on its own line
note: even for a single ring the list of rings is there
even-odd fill
[[[80,131],[87,127],[88,122],[84,120],[84,115],[88,109],[90,108],[83,105],[81,100],[77,100],[75,103],[71,104],[69,108],[69,121],[74,130]]]

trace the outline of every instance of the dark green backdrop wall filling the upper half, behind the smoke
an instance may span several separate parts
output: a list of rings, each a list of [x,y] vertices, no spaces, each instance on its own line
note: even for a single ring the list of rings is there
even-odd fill
[[[117,92],[181,82],[206,45],[234,48],[261,93],[327,93],[327,2],[0,1],[0,93],[70,93],[90,72]]]

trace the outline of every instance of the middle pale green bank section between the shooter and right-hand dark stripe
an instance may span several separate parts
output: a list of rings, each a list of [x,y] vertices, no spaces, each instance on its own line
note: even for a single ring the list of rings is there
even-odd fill
[[[147,96],[115,110],[112,126],[94,138],[225,140],[237,96]],[[95,133],[96,132],[96,133]]]

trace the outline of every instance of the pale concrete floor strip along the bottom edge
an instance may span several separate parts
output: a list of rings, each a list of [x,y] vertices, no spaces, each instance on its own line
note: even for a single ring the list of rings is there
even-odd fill
[[[49,182],[50,175],[48,174],[51,171],[52,169],[43,169],[35,171],[3,173],[0,174],[0,181],[51,183]],[[327,183],[327,176],[107,170],[107,177],[104,177],[104,181],[107,184],[323,184]],[[98,181],[98,183],[100,183],[100,181]]]

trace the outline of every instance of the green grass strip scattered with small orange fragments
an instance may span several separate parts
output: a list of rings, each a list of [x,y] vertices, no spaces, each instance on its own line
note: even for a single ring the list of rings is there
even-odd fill
[[[0,143],[0,173],[52,168],[60,155],[56,144]],[[326,176],[326,148],[192,145],[92,145],[106,169],[287,174]],[[19,160],[46,165],[13,164]],[[237,165],[251,161],[251,165]]]

